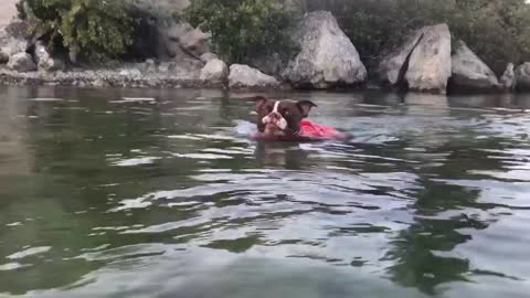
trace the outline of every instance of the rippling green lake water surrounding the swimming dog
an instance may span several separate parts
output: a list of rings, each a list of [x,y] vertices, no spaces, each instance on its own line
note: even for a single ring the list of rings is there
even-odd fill
[[[530,96],[285,94],[354,136],[298,145],[241,94],[0,94],[1,297],[530,291]]]

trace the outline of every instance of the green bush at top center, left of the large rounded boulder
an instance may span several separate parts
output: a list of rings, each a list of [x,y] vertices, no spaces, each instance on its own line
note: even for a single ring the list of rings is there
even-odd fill
[[[293,18],[276,0],[194,0],[183,17],[210,32],[214,51],[230,63],[292,46]]]

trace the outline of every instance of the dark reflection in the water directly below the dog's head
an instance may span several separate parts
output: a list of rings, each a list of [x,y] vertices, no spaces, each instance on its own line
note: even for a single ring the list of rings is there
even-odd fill
[[[299,145],[285,142],[258,142],[254,155],[263,166],[287,169],[300,169],[308,156]]]

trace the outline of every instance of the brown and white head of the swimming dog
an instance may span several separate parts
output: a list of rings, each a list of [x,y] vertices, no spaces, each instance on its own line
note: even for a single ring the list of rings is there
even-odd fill
[[[300,123],[316,107],[309,100],[272,100],[256,97],[257,129],[259,132],[275,136],[297,135]]]

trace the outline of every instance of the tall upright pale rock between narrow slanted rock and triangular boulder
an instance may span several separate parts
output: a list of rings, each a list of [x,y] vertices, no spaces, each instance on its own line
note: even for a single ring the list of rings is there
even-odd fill
[[[409,60],[405,81],[412,91],[445,94],[452,72],[449,28],[425,26],[422,33]]]

